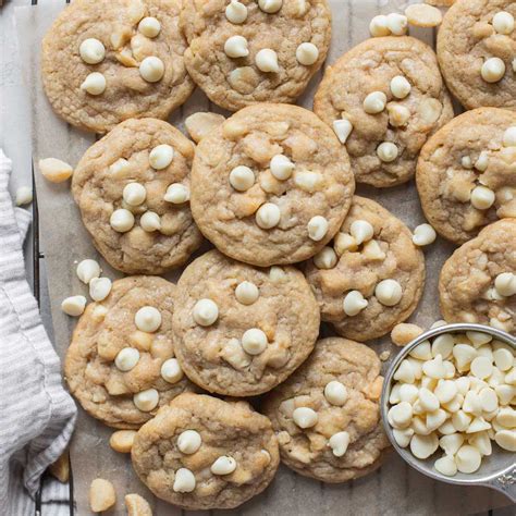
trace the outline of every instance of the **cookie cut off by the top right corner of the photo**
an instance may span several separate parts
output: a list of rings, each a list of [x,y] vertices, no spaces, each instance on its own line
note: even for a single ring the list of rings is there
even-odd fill
[[[516,110],[515,17],[514,0],[457,0],[444,15],[439,64],[465,108]]]

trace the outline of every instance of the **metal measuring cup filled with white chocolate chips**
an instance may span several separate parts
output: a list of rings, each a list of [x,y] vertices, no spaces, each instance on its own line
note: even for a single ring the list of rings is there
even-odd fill
[[[487,486],[516,500],[516,339],[481,324],[445,324],[391,364],[382,419],[420,472]]]

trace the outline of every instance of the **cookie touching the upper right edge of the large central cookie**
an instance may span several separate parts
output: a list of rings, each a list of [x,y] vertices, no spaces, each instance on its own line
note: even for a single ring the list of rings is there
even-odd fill
[[[433,50],[409,36],[357,45],[328,67],[314,111],[346,145],[358,183],[408,181],[428,137],[453,118]]]

